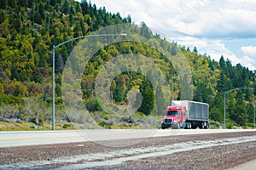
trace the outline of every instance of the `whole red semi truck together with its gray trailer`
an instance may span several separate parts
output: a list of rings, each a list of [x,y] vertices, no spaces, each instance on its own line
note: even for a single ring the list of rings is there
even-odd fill
[[[189,100],[172,100],[167,106],[162,129],[172,128],[208,128],[209,105]]]

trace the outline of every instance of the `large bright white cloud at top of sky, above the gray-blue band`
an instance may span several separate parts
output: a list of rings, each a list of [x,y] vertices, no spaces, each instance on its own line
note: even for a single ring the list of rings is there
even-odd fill
[[[122,16],[131,14],[136,24],[168,34],[180,31],[196,37],[256,37],[256,3],[251,1],[91,0]]]

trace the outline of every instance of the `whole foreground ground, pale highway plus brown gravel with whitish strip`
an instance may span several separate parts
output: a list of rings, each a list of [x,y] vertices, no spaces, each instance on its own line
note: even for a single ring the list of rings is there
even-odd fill
[[[10,132],[0,144],[0,169],[237,169],[256,159],[256,131],[241,129]]]

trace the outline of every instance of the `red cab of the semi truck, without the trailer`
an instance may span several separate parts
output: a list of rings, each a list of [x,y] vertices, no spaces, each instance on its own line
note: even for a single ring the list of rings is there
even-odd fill
[[[186,122],[186,107],[168,106],[162,121],[162,129],[167,127],[180,128],[183,127],[184,122]]]

